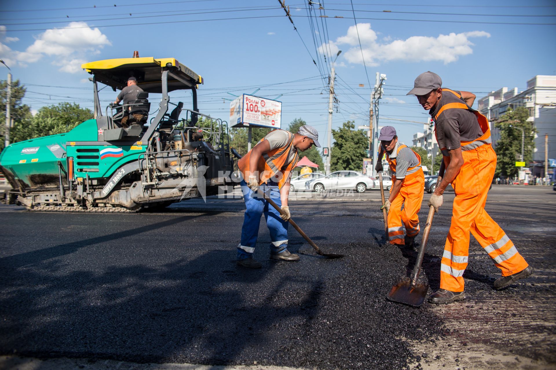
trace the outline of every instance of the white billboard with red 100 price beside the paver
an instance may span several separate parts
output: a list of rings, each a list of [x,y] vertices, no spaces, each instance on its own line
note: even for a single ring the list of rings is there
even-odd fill
[[[242,94],[230,103],[232,127],[281,128],[282,103],[276,100]]]

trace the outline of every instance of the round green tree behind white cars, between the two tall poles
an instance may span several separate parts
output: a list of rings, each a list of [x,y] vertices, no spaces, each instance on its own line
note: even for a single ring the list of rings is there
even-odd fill
[[[341,128],[332,130],[332,137],[335,140],[330,158],[332,171],[361,170],[369,145],[365,131],[355,130],[354,121],[347,121]]]

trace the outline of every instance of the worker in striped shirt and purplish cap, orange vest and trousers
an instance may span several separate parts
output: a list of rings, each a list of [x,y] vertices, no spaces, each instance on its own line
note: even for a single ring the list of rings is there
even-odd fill
[[[425,191],[421,157],[407,145],[399,143],[396,129],[392,126],[384,126],[380,130],[379,140],[380,153],[375,169],[383,171],[381,160],[385,153],[392,173],[390,196],[380,207],[388,212],[388,239],[390,244],[411,246],[419,234],[418,213]]]

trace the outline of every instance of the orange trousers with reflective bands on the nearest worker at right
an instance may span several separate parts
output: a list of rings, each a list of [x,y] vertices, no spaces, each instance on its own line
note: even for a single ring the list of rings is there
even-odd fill
[[[490,144],[462,150],[464,163],[452,186],[455,190],[450,231],[440,265],[440,288],[462,292],[463,273],[469,256],[469,232],[502,270],[502,276],[524,270],[527,262],[504,230],[484,207],[496,169],[496,153]]]

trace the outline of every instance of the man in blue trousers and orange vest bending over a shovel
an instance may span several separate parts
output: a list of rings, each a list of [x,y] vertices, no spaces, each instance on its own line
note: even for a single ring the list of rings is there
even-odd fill
[[[270,231],[270,259],[299,260],[299,255],[287,250],[287,220],[290,219],[287,197],[292,170],[299,161],[297,151],[305,151],[312,145],[320,148],[318,139],[318,131],[308,125],[301,126],[295,134],[280,129],[270,131],[237,163],[243,175],[240,185],[246,207],[241,241],[237,246],[238,266],[261,267],[261,263],[253,259],[253,253],[262,214]],[[274,200],[285,215],[281,215],[260,193],[255,193],[257,189]]]

